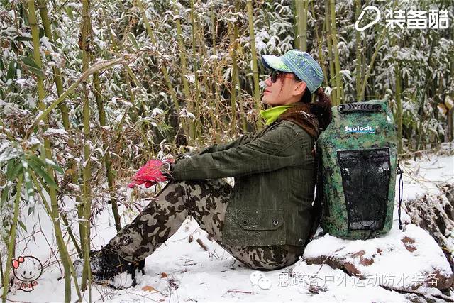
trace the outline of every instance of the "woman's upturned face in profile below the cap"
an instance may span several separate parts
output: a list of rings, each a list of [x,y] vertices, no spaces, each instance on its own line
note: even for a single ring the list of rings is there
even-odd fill
[[[294,79],[294,74],[279,72],[276,82],[272,82],[271,76],[265,80],[265,92],[262,102],[270,106],[292,104],[301,99],[306,89],[306,83]]]

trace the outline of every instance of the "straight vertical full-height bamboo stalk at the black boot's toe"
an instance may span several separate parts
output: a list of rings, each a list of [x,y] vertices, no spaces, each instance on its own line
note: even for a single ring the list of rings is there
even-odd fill
[[[91,20],[90,20],[90,4],[89,1],[82,1],[82,72],[88,70],[90,54],[87,43],[91,37]],[[84,271],[82,273],[82,290],[88,286],[89,302],[92,302],[92,284],[90,270],[90,215],[92,213],[92,198],[90,180],[92,177],[92,162],[90,160],[90,108],[89,108],[89,89],[87,83],[82,85],[84,91],[83,107],[82,107],[82,121],[84,124],[84,165],[82,174],[82,203],[83,203],[83,218],[84,218],[84,241],[82,242],[82,251],[84,252]]]

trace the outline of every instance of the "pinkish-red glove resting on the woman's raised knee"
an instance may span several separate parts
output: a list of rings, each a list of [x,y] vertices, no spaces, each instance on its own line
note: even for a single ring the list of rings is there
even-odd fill
[[[131,182],[128,187],[134,188],[137,185],[142,185],[146,188],[153,186],[157,182],[163,182],[167,180],[167,177],[162,175],[162,171],[170,169],[170,163],[175,162],[173,159],[167,159],[164,161],[160,160],[150,160],[143,167],[140,167],[138,172],[133,177],[133,182]],[[162,166],[168,167],[162,167]]]

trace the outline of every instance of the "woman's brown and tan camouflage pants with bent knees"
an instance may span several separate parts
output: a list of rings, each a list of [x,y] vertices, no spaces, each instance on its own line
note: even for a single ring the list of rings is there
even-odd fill
[[[140,261],[174,234],[188,215],[234,258],[256,270],[275,270],[298,260],[298,246],[228,246],[222,226],[232,187],[224,180],[170,182],[150,204],[118,231],[110,244],[121,257]]]

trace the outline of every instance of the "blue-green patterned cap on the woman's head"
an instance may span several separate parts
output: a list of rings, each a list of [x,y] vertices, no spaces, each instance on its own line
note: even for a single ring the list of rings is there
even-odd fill
[[[289,50],[280,57],[263,55],[262,64],[273,70],[293,72],[301,81],[306,82],[311,94],[314,94],[323,82],[323,71],[319,63],[311,55],[301,52],[301,50]]]

